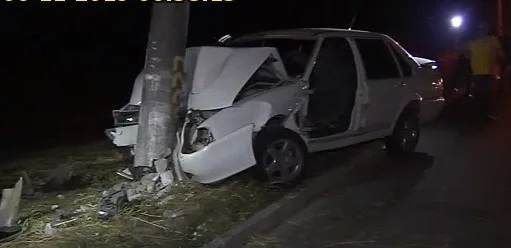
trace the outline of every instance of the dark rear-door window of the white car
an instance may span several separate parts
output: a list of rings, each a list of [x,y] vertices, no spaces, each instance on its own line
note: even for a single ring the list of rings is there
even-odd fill
[[[355,40],[369,80],[399,78],[399,69],[387,44],[380,39]]]

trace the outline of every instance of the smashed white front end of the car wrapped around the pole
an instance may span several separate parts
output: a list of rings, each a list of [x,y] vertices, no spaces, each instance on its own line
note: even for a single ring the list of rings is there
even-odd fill
[[[184,65],[191,87],[183,89],[187,113],[174,163],[205,184],[255,165],[254,134],[271,117],[289,115],[303,85],[287,77],[277,50],[270,47],[192,47]],[[140,105],[133,97],[130,103]],[[115,145],[136,144],[138,111],[130,105],[114,111],[116,127],[107,136]]]

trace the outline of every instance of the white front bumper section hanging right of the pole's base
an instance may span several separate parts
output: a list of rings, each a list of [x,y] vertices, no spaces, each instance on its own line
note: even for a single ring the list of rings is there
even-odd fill
[[[256,164],[253,132],[254,125],[248,125],[194,153],[180,151],[179,163],[183,171],[200,183],[214,183],[230,177]]]

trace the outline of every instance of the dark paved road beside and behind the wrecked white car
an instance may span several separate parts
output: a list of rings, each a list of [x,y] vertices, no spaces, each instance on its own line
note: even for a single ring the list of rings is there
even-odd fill
[[[511,109],[511,108],[510,108]],[[377,151],[259,241],[264,247],[511,247],[511,111],[489,125],[425,127],[418,153]],[[257,243],[257,241],[256,241]]]

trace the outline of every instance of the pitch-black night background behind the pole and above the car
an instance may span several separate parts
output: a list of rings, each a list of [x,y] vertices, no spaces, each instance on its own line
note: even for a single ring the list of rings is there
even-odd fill
[[[188,46],[225,34],[298,27],[384,32],[410,53],[435,58],[453,43],[449,18],[493,23],[492,1],[237,0],[191,6]],[[2,3],[1,152],[103,135],[142,69],[148,3]]]

